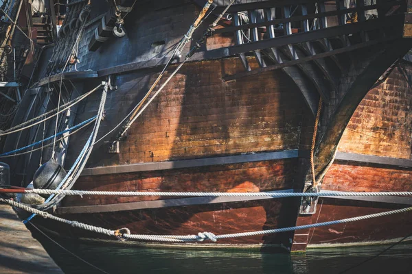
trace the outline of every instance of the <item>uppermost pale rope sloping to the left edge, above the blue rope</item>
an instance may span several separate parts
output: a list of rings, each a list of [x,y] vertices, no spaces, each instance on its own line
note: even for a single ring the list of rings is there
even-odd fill
[[[12,133],[15,133],[15,132],[20,132],[20,131],[22,131],[22,130],[24,130],[24,129],[33,127],[34,125],[38,125],[39,123],[43,123],[44,121],[47,121],[47,120],[53,118],[53,117],[56,116],[57,114],[59,114],[59,113],[61,113],[61,112],[64,112],[65,110],[71,108],[73,105],[76,105],[76,103],[79,103],[80,101],[82,101],[83,99],[85,99],[86,97],[88,97],[89,95],[91,95],[93,92],[95,92],[96,90],[98,90],[98,89],[101,88],[101,87],[102,87],[102,84],[100,84],[99,86],[96,86],[95,88],[93,88],[93,90],[90,90],[89,92],[84,93],[84,95],[81,95],[81,96],[77,97],[76,99],[73,99],[73,100],[65,103],[64,105],[60,105],[60,108],[62,108],[61,110],[58,110],[58,108],[55,108],[54,110],[50,110],[49,112],[46,112],[46,113],[41,114],[41,115],[39,115],[39,116],[37,116],[37,117],[34,117],[33,119],[30,119],[29,121],[25,121],[24,123],[21,123],[20,125],[16,125],[16,126],[10,128],[10,129],[7,129],[7,130],[5,130],[5,131],[2,131],[2,132],[0,132],[0,136],[12,134]],[[57,113],[52,114],[53,112],[56,112],[56,111],[57,111]],[[49,114],[52,114],[52,115],[51,115],[51,116],[47,116],[47,115],[49,115]],[[44,117],[44,116],[47,116],[47,117],[46,117],[45,119],[42,119],[41,121],[37,121],[38,119],[41,119],[41,118]],[[36,122],[36,123],[32,123],[32,122],[34,122],[34,121],[37,121],[37,122]],[[30,123],[32,123],[32,124],[30,124]],[[30,124],[30,125],[28,125],[27,127],[25,127],[25,125],[27,125],[27,124]],[[21,127],[23,127],[23,128],[21,128]]]

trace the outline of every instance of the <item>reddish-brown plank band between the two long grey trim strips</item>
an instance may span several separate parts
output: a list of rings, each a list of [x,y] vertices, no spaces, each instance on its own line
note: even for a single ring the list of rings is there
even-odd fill
[[[169,171],[83,176],[78,190],[258,192],[293,187],[296,159],[203,166]],[[90,206],[173,197],[66,197],[62,206]]]

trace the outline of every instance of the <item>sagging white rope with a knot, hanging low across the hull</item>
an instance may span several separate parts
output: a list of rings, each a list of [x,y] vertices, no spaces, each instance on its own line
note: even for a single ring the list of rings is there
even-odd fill
[[[130,230],[128,228],[111,230],[111,229],[106,229],[104,227],[96,227],[94,225],[87,225],[85,223],[80,223],[78,221],[70,221],[67,219],[60,218],[58,216],[54,216],[53,214],[43,212],[41,210],[36,210],[35,208],[26,206],[23,203],[19,203],[19,202],[8,200],[8,199],[0,198],[0,202],[8,203],[10,206],[21,208],[22,210],[31,212],[32,216],[34,214],[38,214],[38,215],[41,215],[45,219],[52,219],[60,223],[71,225],[72,227],[85,229],[90,232],[95,232],[98,234],[104,234],[106,236],[115,236],[119,240],[133,239],[133,240],[152,240],[152,241],[157,241],[157,242],[196,242],[196,241],[203,242],[204,240],[211,240],[212,242],[216,242],[219,239],[225,239],[225,238],[239,238],[239,237],[247,237],[247,236],[258,236],[258,235],[264,235],[264,234],[275,234],[279,232],[290,232],[290,231],[295,231],[299,229],[310,229],[313,227],[324,227],[328,225],[337,225],[341,223],[352,223],[355,221],[374,219],[374,218],[378,218],[381,216],[400,214],[400,213],[409,212],[412,210],[412,207],[402,208],[399,210],[391,210],[391,211],[357,216],[357,217],[352,217],[352,218],[347,218],[347,219],[328,221],[324,223],[314,223],[310,225],[299,225],[295,227],[283,227],[283,228],[277,228],[277,229],[259,230],[259,231],[254,231],[254,232],[241,232],[241,233],[234,233],[234,234],[215,235],[211,232],[199,232],[197,235],[150,235],[150,234],[130,234]]]

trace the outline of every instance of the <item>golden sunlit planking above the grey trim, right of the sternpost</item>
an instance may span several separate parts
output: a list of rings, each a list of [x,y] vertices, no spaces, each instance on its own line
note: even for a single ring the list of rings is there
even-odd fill
[[[339,151],[411,159],[412,89],[406,76],[410,73],[411,64],[401,61],[385,82],[367,93]]]

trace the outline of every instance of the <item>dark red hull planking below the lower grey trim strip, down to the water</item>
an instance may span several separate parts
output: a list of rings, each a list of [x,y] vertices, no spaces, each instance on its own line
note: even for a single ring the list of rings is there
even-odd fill
[[[197,234],[198,232],[227,234],[287,227],[293,223],[293,220],[289,218],[291,211],[294,211],[294,209],[290,204],[290,199],[284,199],[283,201],[276,199],[94,214],[62,214],[59,216],[111,229],[128,227],[133,234],[187,235]],[[70,237],[76,235],[76,237],[80,239],[97,238],[115,240],[111,237],[89,233],[84,231],[84,229],[69,227],[47,219],[37,218],[36,222],[45,227],[54,227],[54,230],[60,234],[60,236]],[[263,244],[282,244],[284,247],[288,247],[288,245],[290,245],[290,237],[290,233],[282,233],[246,238],[231,238],[219,240],[214,244],[214,247],[218,247],[220,244],[240,245],[238,247],[242,247],[242,245],[259,245],[257,248],[260,248]],[[127,243],[130,245],[132,242],[133,240],[128,240]],[[196,245],[208,243],[210,244],[208,241],[198,242]]]

